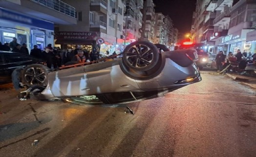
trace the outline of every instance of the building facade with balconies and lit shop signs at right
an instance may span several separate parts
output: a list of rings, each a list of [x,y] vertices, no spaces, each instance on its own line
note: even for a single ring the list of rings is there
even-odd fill
[[[210,45],[208,52],[210,48],[213,53],[222,50],[236,54],[238,49],[256,52],[256,39],[252,32],[255,28],[255,0],[197,0],[193,13],[193,41]]]

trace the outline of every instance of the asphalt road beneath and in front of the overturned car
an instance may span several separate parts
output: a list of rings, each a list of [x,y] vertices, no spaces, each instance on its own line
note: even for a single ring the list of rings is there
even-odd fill
[[[256,157],[256,91],[203,80],[126,105],[28,99],[0,90],[0,157]],[[35,145],[32,145],[34,140]]]

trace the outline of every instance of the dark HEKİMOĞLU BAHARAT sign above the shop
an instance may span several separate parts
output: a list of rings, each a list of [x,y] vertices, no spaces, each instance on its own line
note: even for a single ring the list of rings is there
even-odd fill
[[[62,32],[55,31],[55,39],[82,39],[82,40],[96,40],[100,37],[100,32]]]

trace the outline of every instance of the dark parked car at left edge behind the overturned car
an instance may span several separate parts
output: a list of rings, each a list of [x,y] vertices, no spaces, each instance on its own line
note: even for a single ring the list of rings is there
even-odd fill
[[[31,64],[44,63],[42,59],[30,55],[0,51],[0,84],[12,81],[12,72],[17,67],[25,67]]]

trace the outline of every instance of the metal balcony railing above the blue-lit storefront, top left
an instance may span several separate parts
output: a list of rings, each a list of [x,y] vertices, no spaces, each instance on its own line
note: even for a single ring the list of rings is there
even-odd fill
[[[30,0],[67,16],[76,18],[76,9],[61,0]]]

